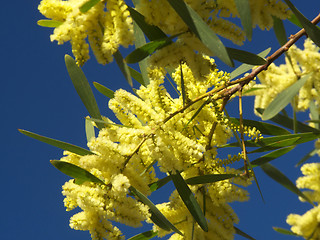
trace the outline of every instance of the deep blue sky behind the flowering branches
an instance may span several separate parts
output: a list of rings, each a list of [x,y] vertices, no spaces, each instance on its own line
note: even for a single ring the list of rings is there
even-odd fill
[[[62,150],[28,138],[18,132],[18,128],[41,135],[86,146],[84,117],[88,115],[67,74],[64,55],[71,54],[69,44],[58,46],[51,43],[52,29],[37,26],[43,17],[37,11],[40,1],[4,1],[0,8],[1,31],[1,146],[2,182],[1,239],[90,239],[88,232],[69,228],[69,217],[63,206],[61,186],[68,179],[50,163],[59,159]],[[320,2],[292,1],[309,18],[320,10]],[[286,24],[287,33],[298,29]],[[278,48],[273,32],[254,31],[253,42],[245,44],[251,52],[261,52],[272,47]],[[299,45],[302,41],[300,40]],[[230,42],[227,42],[230,45]],[[231,45],[230,45],[231,46]],[[281,62],[281,60],[279,60]],[[278,61],[278,62],[279,62]],[[221,70],[230,71],[225,65]],[[114,64],[101,66],[92,58],[83,68],[90,82],[97,81],[109,88],[130,89]],[[104,115],[107,100],[96,90],[99,107]],[[252,114],[252,98],[245,101],[247,116]],[[248,106],[248,107],[247,107]],[[229,114],[237,114],[237,105],[229,107]],[[302,115],[303,116],[303,115]],[[304,144],[291,153],[274,161],[274,165],[295,181],[300,170],[294,164],[312,149],[312,144]],[[318,157],[310,161],[319,161]],[[279,235],[272,226],[288,228],[286,216],[304,213],[309,205],[301,203],[296,195],[256,170],[266,203],[263,203],[256,186],[248,188],[251,200],[232,204],[240,218],[237,226],[256,239],[295,239]],[[155,202],[159,196],[153,197]],[[132,236],[140,230],[127,232]],[[164,238],[165,239],[165,238]],[[236,236],[236,239],[243,239]]]

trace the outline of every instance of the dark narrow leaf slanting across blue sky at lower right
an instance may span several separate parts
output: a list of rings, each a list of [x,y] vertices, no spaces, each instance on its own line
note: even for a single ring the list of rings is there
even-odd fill
[[[294,185],[289,178],[287,178],[282,172],[280,172],[277,168],[272,166],[270,163],[265,163],[260,166],[261,169],[273,180],[290,190],[291,192],[297,194],[298,196],[305,199],[307,202],[313,203]]]

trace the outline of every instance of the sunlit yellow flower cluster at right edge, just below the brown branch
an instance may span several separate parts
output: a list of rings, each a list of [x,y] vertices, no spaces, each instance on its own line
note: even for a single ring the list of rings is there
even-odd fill
[[[268,71],[258,75],[260,87],[250,94],[256,95],[255,108],[265,109],[271,101],[283,90],[297,82],[302,76],[310,74],[309,79],[300,89],[295,98],[295,109],[305,111],[309,108],[310,101],[315,101],[320,106],[320,52],[319,48],[310,40],[304,42],[304,50],[292,46],[286,58],[286,64],[277,67],[271,64]]]

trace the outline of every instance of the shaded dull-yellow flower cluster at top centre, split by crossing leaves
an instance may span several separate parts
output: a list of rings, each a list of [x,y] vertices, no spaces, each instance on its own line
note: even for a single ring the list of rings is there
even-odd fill
[[[243,30],[226,19],[239,17],[233,0],[185,0],[218,35],[241,45],[245,40]],[[272,16],[281,19],[289,17],[286,4],[277,0],[250,0],[253,26],[270,29],[273,26]],[[137,10],[146,17],[150,24],[161,28],[166,34],[183,33],[178,40],[153,54],[151,64],[159,66],[159,61],[168,66],[177,66],[181,59],[188,63],[194,61],[193,51],[210,55],[201,41],[188,31],[188,26],[174,11],[167,0],[141,0]],[[170,53],[170,54],[168,54]]]

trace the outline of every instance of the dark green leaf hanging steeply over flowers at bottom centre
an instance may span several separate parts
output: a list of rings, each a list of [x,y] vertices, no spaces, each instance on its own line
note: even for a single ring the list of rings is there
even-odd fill
[[[208,232],[207,220],[187,183],[184,181],[178,171],[176,172],[176,174],[170,173],[170,176],[182,201],[188,208],[194,220],[199,224],[203,231]]]

